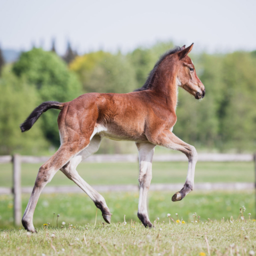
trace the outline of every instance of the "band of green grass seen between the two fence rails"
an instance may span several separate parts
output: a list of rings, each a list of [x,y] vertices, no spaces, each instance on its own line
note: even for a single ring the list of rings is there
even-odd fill
[[[40,164],[22,164],[22,186],[33,186]],[[152,183],[185,182],[188,164],[183,162],[153,162]],[[90,185],[138,184],[137,163],[82,163],[77,171]],[[195,182],[253,182],[253,162],[198,162]],[[62,172],[51,185],[74,185]],[[0,164],[0,186],[12,186],[11,164]]]

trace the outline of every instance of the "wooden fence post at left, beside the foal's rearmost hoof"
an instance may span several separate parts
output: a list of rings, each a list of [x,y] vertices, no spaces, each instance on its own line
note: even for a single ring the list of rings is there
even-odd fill
[[[21,225],[21,159],[13,155],[13,219],[14,225]]]

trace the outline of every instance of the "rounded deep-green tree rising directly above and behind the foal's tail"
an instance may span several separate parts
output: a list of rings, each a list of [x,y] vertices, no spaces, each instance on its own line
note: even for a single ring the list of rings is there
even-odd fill
[[[81,95],[81,83],[76,75],[68,70],[65,62],[53,52],[45,52],[42,49],[24,52],[13,65],[13,72],[35,86],[40,96],[38,105],[49,100],[67,102]],[[54,146],[60,144],[58,114],[58,110],[52,110],[42,116],[42,129]]]

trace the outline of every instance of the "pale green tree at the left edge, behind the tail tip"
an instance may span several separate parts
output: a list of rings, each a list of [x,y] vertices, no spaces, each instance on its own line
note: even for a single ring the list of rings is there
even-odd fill
[[[19,127],[37,106],[39,95],[33,86],[10,73],[9,69],[4,68],[0,78],[0,154],[41,153],[49,143],[44,139],[40,125],[33,127],[29,133],[21,133]],[[41,122],[38,121],[39,124]]]

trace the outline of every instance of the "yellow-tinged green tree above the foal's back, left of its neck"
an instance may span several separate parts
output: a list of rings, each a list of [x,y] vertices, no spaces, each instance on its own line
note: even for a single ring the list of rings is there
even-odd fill
[[[77,57],[70,69],[78,74],[84,92],[126,93],[137,88],[134,69],[121,53],[85,54]]]

